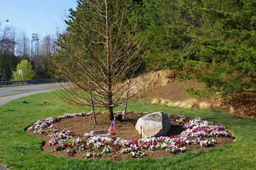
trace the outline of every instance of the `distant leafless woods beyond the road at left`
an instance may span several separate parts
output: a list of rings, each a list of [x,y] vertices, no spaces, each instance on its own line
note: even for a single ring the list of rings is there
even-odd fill
[[[29,39],[26,31],[14,26],[1,27],[0,23],[0,81],[13,80],[12,71],[20,61],[31,62],[34,78],[51,78],[51,55],[56,53],[57,33],[40,37],[32,34]]]

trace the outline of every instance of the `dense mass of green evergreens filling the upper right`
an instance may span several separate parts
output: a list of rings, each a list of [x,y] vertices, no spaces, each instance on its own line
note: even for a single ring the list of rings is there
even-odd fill
[[[204,82],[205,88],[202,93],[189,89],[191,93],[221,92],[226,96],[245,90],[253,92],[255,1],[163,0],[144,4],[146,32],[153,37],[156,34],[156,44],[163,46],[152,51],[158,55],[151,55],[164,56],[163,60],[159,58],[164,61],[162,68],[167,64],[171,68],[192,69],[192,74],[183,74],[181,80],[193,78]]]

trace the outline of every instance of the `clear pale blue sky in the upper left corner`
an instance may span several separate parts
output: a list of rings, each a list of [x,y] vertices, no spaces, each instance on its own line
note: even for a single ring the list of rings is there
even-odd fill
[[[56,32],[56,24],[63,26],[63,11],[76,9],[76,0],[0,0],[1,29],[15,26],[25,31],[31,39],[32,33],[41,37]]]

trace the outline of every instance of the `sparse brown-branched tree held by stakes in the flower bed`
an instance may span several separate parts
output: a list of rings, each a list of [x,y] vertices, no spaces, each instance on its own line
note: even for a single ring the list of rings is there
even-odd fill
[[[141,30],[132,1],[77,2],[76,11],[70,10],[67,31],[60,35],[60,49],[52,60],[56,72],[75,86],[65,88],[62,94],[73,105],[90,106],[89,81],[94,106],[108,109],[113,120],[113,108],[125,103],[122,95],[126,86],[118,82],[133,78],[147,48],[139,39]]]

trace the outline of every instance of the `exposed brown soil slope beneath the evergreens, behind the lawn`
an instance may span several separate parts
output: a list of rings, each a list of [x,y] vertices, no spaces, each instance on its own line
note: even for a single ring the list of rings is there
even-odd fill
[[[151,102],[154,98],[167,99],[171,102],[185,101],[189,99],[184,87],[203,88],[204,84],[193,80],[178,82],[175,80],[174,72],[158,71],[153,73],[154,86],[141,98],[144,101]],[[242,117],[256,117],[256,93],[243,92],[234,94],[233,99],[221,98],[201,98],[210,104],[213,109],[229,111],[232,114],[241,115]]]

